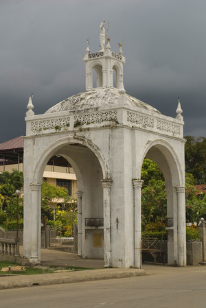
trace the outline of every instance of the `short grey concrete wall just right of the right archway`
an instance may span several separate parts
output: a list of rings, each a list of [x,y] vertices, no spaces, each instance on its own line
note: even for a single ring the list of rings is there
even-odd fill
[[[203,261],[203,243],[187,241],[187,265],[198,265]]]

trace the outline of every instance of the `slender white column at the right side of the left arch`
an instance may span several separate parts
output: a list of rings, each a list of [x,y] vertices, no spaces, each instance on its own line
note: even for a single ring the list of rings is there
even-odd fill
[[[103,187],[104,206],[104,267],[111,267],[111,204],[110,189],[112,180],[106,178],[101,181]]]

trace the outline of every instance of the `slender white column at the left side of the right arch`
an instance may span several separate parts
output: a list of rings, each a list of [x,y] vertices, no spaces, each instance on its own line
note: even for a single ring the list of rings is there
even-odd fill
[[[133,180],[135,195],[135,267],[141,268],[141,187],[143,180]]]

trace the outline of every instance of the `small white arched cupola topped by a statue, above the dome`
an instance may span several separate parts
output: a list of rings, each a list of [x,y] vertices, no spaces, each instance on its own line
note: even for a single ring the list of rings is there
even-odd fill
[[[119,94],[124,94],[123,64],[126,62],[122,56],[122,43],[119,43],[119,52],[111,51],[108,27],[105,34],[104,23],[100,25],[100,51],[90,53],[89,40],[87,40],[86,53],[83,61],[86,64],[86,91],[93,88],[117,88]],[[96,75],[96,80],[94,76]]]

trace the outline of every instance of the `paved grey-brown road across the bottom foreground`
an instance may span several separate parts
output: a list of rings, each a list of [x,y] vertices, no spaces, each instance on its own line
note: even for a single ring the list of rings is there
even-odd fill
[[[0,307],[206,307],[205,267],[156,269],[151,275],[134,278],[1,290]]]

